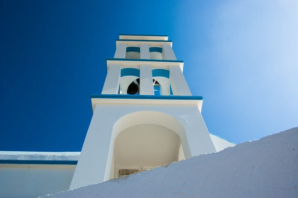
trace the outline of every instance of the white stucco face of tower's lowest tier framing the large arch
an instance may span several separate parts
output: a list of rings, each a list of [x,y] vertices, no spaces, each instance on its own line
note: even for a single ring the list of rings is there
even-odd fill
[[[176,132],[185,158],[216,152],[197,105],[97,104],[70,189],[108,180],[115,138],[138,124],[156,124]]]

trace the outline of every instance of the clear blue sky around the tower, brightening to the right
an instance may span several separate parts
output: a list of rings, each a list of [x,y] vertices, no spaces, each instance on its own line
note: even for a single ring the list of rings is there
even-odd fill
[[[80,151],[119,34],[169,35],[209,132],[298,126],[297,1],[0,1],[0,150]]]

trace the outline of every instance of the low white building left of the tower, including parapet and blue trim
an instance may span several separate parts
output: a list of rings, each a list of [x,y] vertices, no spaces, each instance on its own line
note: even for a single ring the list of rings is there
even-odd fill
[[[80,152],[0,151],[0,198],[31,198],[69,189]],[[39,164],[38,164],[39,163]]]

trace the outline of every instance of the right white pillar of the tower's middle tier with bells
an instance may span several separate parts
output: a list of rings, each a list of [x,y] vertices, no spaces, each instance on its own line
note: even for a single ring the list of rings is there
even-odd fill
[[[191,96],[189,87],[179,66],[169,66],[173,95]]]

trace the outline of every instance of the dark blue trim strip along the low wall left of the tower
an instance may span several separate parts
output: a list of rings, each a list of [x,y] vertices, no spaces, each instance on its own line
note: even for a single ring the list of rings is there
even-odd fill
[[[76,165],[77,160],[0,160],[0,164],[68,164]]]

